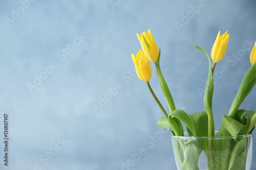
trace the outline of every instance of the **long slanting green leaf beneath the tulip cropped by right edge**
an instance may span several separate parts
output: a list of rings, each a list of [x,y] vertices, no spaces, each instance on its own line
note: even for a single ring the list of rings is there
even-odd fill
[[[250,93],[251,89],[256,83],[256,64],[254,63],[246,72],[242,83],[238,89],[237,95],[234,98],[230,107],[228,115],[233,117],[236,114],[238,108],[245,100],[246,96]]]

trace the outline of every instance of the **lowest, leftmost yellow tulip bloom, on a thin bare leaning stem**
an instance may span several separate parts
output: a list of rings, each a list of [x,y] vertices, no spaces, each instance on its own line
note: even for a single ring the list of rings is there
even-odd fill
[[[142,50],[139,50],[136,57],[132,54],[132,59],[135,65],[137,76],[140,80],[148,82],[151,78],[152,71],[150,62],[147,60]]]

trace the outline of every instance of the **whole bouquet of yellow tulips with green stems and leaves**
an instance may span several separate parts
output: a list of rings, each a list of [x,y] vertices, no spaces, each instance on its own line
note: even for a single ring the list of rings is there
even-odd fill
[[[157,122],[158,126],[170,130],[173,136],[184,136],[183,123],[186,126],[187,133],[190,137],[221,138],[223,136],[230,136],[232,139],[214,140],[212,138],[203,142],[194,140],[182,142],[181,140],[178,140],[177,143],[174,143],[174,149],[181,169],[199,169],[197,162],[202,152],[204,152],[207,157],[208,169],[245,169],[248,152],[247,146],[250,144],[250,141],[239,138],[238,136],[252,134],[256,123],[256,113],[251,109],[243,110],[239,109],[239,107],[256,83],[256,42],[250,54],[250,62],[252,65],[241,82],[228,114],[223,115],[220,130],[215,134],[215,123],[212,115],[212,95],[214,92],[213,74],[217,62],[219,62],[226,53],[229,40],[228,32],[223,35],[221,35],[220,32],[218,33],[211,50],[211,59],[213,62],[211,62],[209,55],[203,48],[194,45],[206,55],[209,63],[209,70],[204,91],[205,111],[193,114],[187,114],[184,110],[176,109],[172,94],[170,93],[160,70],[160,48],[158,48],[155,43],[151,31],[148,29],[147,33],[137,33],[137,37],[140,41],[142,50],[139,50],[136,57],[132,54],[132,59],[138,78],[146,82],[153,98],[164,114],[164,117],[159,118]],[[168,104],[168,112],[163,108],[150,86],[149,80],[152,76],[152,70],[149,61],[153,62],[156,67],[157,77]],[[223,153],[217,151],[222,151],[226,148],[228,148],[229,154],[223,158]],[[222,157],[222,159],[217,162],[217,157]]]

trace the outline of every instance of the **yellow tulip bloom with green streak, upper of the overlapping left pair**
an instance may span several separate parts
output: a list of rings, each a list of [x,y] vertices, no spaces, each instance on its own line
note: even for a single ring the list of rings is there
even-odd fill
[[[137,37],[147,59],[152,62],[156,62],[158,59],[159,50],[150,29],[147,30],[147,34],[145,32],[143,32],[141,35],[137,33]]]

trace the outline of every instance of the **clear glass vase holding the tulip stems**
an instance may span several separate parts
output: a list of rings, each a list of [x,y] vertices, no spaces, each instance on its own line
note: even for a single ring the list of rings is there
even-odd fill
[[[178,170],[249,170],[252,134],[225,137],[172,136]]]

